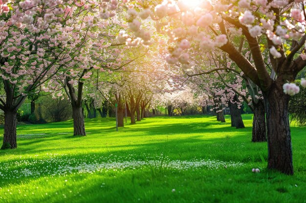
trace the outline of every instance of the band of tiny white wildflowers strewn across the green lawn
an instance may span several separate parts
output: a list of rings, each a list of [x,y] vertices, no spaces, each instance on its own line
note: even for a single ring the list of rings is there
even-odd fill
[[[19,161],[6,162],[0,166],[2,179],[19,179],[23,177],[40,176],[67,176],[68,174],[82,174],[108,171],[124,171],[145,168],[163,168],[169,170],[218,170],[236,168],[243,164],[239,162],[223,162],[219,160],[170,160],[164,155],[147,155],[145,160],[134,158],[131,154],[127,157],[109,155],[106,157],[87,154],[82,157],[71,157],[67,154],[47,154],[46,156],[24,156]],[[65,180],[67,182],[68,180]]]

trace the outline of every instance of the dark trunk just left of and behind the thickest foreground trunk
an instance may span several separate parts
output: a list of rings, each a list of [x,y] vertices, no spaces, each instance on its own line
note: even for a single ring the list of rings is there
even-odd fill
[[[252,142],[266,142],[266,131],[265,131],[265,117],[264,117],[264,104],[262,100],[258,103],[253,102],[254,107],[254,118],[253,118],[253,129],[252,129]]]

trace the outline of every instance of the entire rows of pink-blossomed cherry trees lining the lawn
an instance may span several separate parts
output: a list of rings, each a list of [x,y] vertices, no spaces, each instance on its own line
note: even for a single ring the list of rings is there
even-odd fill
[[[68,97],[81,136],[83,100],[93,99],[96,109],[115,101],[123,126],[124,109],[135,123],[134,114],[140,120],[164,96],[170,115],[174,108],[183,114],[184,98],[197,95],[220,121],[228,106],[236,128],[244,128],[246,102],[252,141],[268,141],[268,168],[293,174],[288,102],[306,65],[304,1],[0,3],[2,148],[17,147],[16,113],[42,90]]]

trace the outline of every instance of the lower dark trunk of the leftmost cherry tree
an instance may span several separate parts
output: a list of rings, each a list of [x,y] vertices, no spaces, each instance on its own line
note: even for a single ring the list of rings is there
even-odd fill
[[[17,111],[4,111],[4,135],[1,149],[17,148]]]

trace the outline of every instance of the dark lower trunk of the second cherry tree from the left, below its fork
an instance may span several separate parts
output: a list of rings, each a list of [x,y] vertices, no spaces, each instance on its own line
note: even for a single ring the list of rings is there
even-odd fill
[[[73,135],[86,136],[82,106],[72,106]]]

